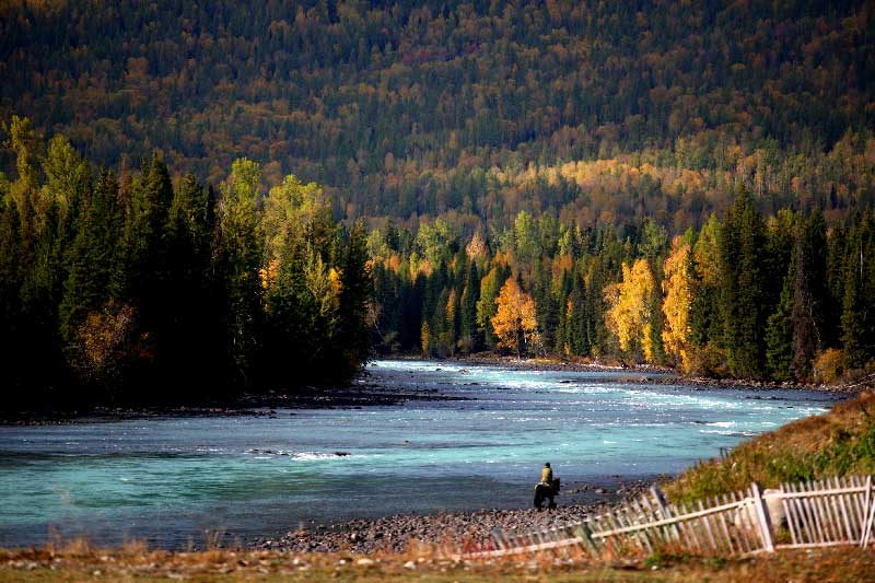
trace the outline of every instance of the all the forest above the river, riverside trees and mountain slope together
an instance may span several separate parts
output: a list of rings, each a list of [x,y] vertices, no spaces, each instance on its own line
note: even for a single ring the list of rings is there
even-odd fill
[[[371,347],[875,366],[872,2],[0,14],[10,386],[265,389]]]

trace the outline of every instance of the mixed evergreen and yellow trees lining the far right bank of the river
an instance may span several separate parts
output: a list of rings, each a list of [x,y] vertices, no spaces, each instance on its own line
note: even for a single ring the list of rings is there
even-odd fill
[[[438,219],[416,236],[369,236],[378,348],[453,355],[486,349],[686,373],[836,382],[875,358],[875,212],[762,217],[737,193],[721,218],[669,237],[521,211],[470,241]]]

